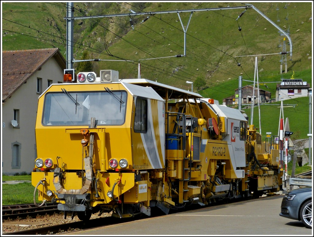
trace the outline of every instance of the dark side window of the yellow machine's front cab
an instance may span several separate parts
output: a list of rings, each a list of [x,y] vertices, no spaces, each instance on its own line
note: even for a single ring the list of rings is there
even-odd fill
[[[134,132],[147,132],[147,100],[140,98],[136,100]]]

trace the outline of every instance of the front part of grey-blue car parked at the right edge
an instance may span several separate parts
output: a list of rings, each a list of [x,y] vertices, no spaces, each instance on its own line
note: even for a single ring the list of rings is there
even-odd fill
[[[286,193],[279,215],[301,220],[307,228],[312,228],[312,187],[297,188]]]

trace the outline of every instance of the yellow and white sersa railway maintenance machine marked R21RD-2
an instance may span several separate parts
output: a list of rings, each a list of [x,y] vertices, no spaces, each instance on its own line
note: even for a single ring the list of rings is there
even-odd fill
[[[39,97],[37,206],[58,203],[64,218],[123,218],[279,191],[278,144],[262,141],[241,111],[108,71],[74,83],[65,74]]]

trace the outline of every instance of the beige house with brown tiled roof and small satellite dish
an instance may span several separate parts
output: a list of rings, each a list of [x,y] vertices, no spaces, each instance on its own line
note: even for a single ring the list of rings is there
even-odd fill
[[[2,51],[1,61],[2,173],[31,173],[38,97],[62,83],[66,61],[58,48]]]

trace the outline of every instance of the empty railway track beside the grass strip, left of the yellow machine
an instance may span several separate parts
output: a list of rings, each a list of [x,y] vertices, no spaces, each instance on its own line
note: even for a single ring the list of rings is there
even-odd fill
[[[2,219],[26,219],[34,218],[36,216],[52,215],[60,213],[57,204],[47,203],[42,207],[36,207],[35,204],[16,204],[2,206]]]

